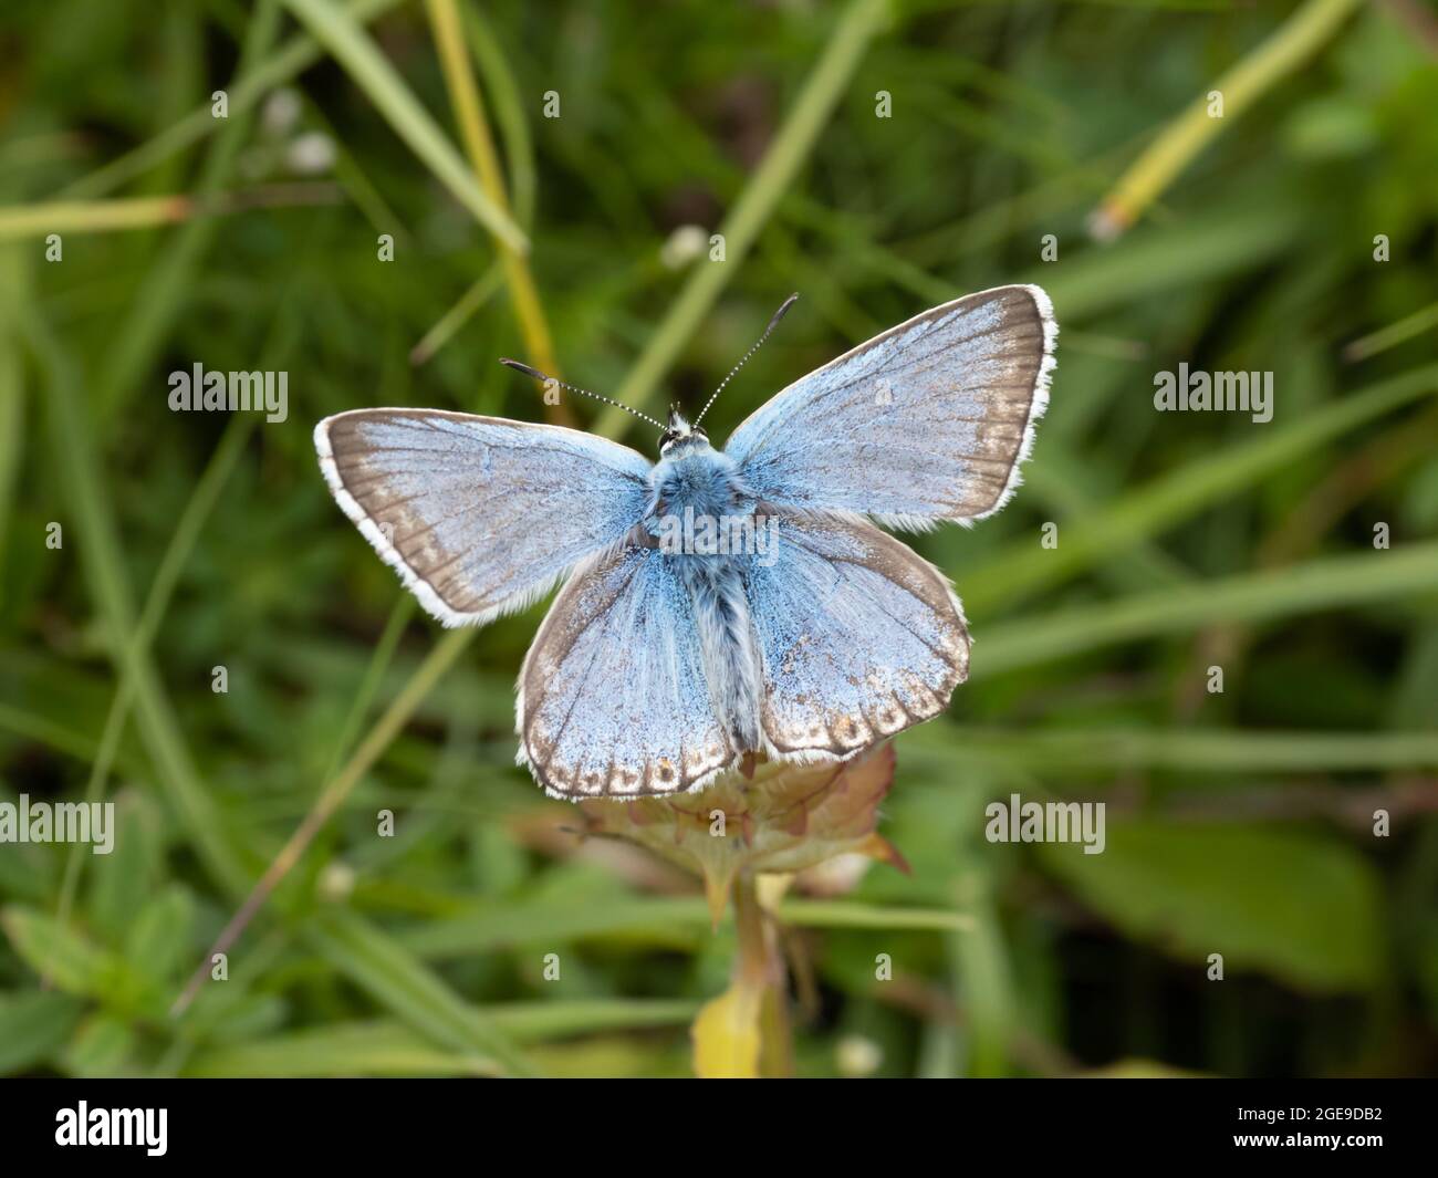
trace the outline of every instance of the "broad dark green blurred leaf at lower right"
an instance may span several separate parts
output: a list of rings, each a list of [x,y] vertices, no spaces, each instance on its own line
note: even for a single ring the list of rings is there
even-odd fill
[[[1070,843],[1035,846],[1084,903],[1199,968],[1222,954],[1225,974],[1257,969],[1299,990],[1368,990],[1379,981],[1378,879],[1334,839],[1123,821],[1109,826],[1102,854]]]

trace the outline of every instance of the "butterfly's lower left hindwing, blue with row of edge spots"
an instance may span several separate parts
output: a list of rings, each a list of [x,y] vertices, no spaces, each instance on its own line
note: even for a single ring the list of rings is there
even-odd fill
[[[569,578],[519,672],[519,761],[554,797],[706,784],[736,759],[715,718],[689,593],[659,548]]]

